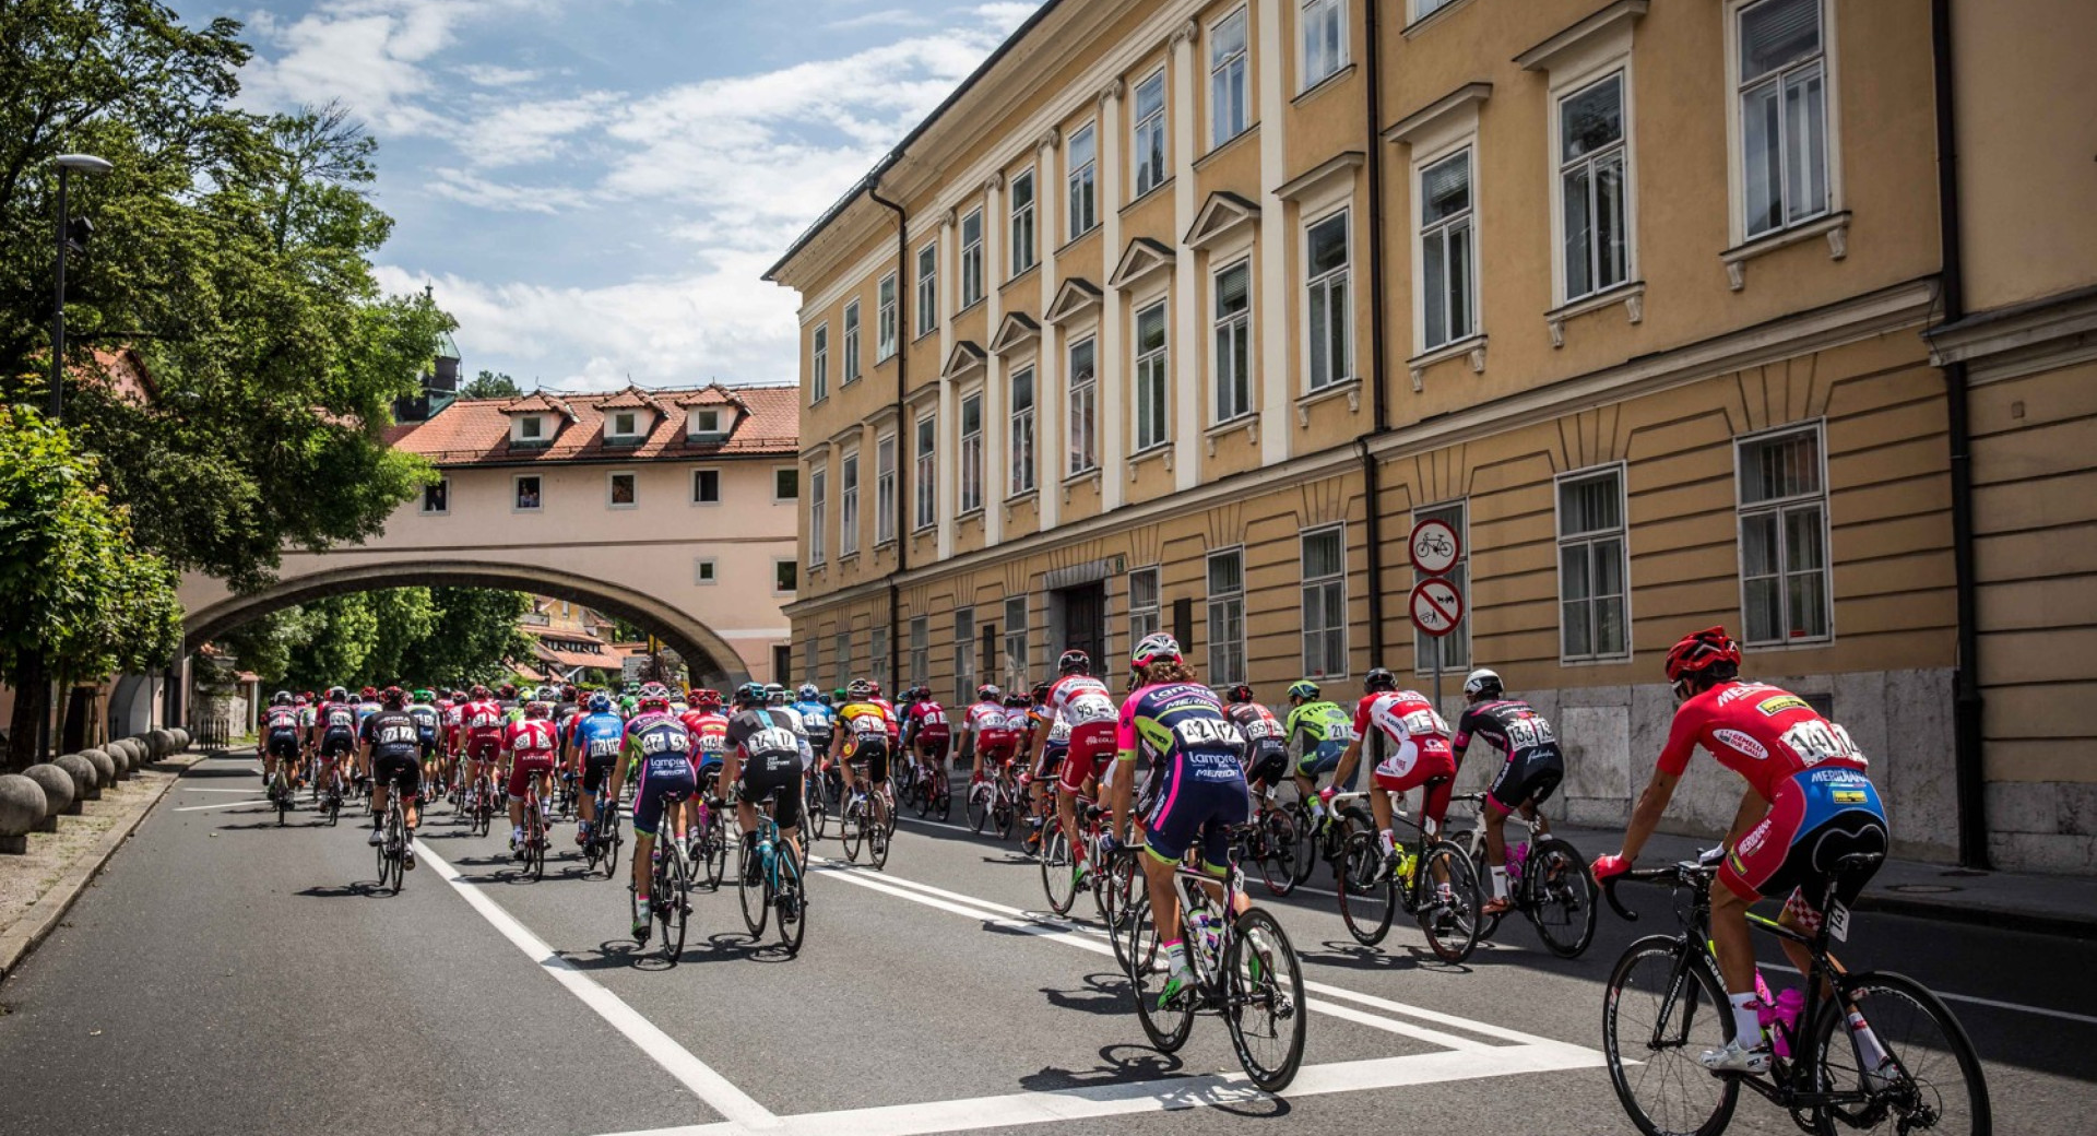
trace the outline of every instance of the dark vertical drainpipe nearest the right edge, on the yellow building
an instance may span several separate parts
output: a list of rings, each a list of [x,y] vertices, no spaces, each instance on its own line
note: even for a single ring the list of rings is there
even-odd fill
[[[1938,245],[1944,256],[1942,325],[1965,319],[1965,260],[1959,249],[1959,124],[1952,117],[1952,6],[1929,0],[1929,54],[1936,65]],[[1940,327],[1942,327],[1940,325]],[[1988,868],[1988,778],[1980,692],[1980,585],[1973,578],[1973,423],[1967,365],[1944,365],[1944,415],[1952,474],[1952,574],[1959,608],[1959,669],[1952,687],[1952,778],[1959,799],[1959,866]]]

